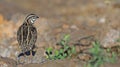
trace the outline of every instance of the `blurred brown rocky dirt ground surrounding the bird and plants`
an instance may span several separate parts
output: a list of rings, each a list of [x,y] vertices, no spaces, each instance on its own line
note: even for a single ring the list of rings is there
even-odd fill
[[[34,26],[38,31],[37,53],[29,59],[21,58],[16,33],[25,17],[34,13],[40,18]],[[47,61],[45,48],[56,48],[65,34],[70,43],[82,37],[94,36],[103,47],[120,45],[120,0],[0,0],[0,67],[83,67],[80,59]],[[70,44],[71,45],[71,44]],[[78,48],[79,50],[79,48]],[[104,67],[119,67],[105,64]]]

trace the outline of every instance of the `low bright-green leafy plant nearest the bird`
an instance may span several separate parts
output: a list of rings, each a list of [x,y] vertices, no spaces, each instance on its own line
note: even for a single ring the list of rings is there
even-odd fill
[[[59,50],[53,50],[52,48],[46,49],[46,54],[48,59],[56,60],[56,59],[65,59],[67,57],[71,57],[74,54],[75,47],[70,47],[68,42],[70,40],[70,35],[65,35],[64,38],[58,43],[61,48]]]

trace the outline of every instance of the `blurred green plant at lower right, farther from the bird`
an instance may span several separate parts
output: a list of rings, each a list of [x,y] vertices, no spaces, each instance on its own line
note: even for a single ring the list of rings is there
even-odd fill
[[[107,49],[107,52],[108,53],[105,52],[105,49],[101,48],[98,41],[95,41],[93,43],[93,48],[90,49],[92,59],[87,62],[85,67],[100,67],[105,62],[114,63],[116,60],[116,54],[112,52],[111,56],[109,56],[110,49]]]

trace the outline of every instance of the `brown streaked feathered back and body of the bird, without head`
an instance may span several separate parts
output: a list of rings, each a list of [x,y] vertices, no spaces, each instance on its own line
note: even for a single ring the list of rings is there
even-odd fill
[[[23,23],[17,32],[17,40],[22,52],[34,49],[37,40],[37,30],[32,24]]]

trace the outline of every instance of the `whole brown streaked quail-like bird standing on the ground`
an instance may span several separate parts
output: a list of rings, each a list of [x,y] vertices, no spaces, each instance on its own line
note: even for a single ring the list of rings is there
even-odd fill
[[[29,14],[19,27],[17,31],[17,41],[21,48],[21,53],[18,57],[35,55],[36,51],[34,49],[36,48],[37,30],[33,24],[38,18],[36,14]]]

